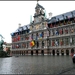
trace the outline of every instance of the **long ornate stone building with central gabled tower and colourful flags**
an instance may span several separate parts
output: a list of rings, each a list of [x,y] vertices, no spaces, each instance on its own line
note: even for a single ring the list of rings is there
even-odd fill
[[[34,21],[19,27],[12,37],[12,55],[70,55],[75,52],[75,11],[46,18],[37,3]]]

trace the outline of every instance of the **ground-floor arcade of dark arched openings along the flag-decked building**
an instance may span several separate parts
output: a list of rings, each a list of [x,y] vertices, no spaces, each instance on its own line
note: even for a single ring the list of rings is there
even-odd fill
[[[70,49],[44,49],[44,50],[14,50],[12,55],[71,55],[75,53],[74,48]]]

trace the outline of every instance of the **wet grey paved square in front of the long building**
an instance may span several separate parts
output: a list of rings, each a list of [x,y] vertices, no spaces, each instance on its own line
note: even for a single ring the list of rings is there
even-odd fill
[[[75,74],[71,56],[0,58],[0,74]]]

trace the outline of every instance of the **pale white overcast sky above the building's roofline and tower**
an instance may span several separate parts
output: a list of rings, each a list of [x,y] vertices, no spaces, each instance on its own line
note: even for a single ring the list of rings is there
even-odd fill
[[[21,26],[30,23],[30,15],[34,15],[37,1],[0,1],[0,34],[4,41],[11,43],[10,33]],[[46,15],[52,16],[75,10],[75,1],[39,1],[46,10]]]

